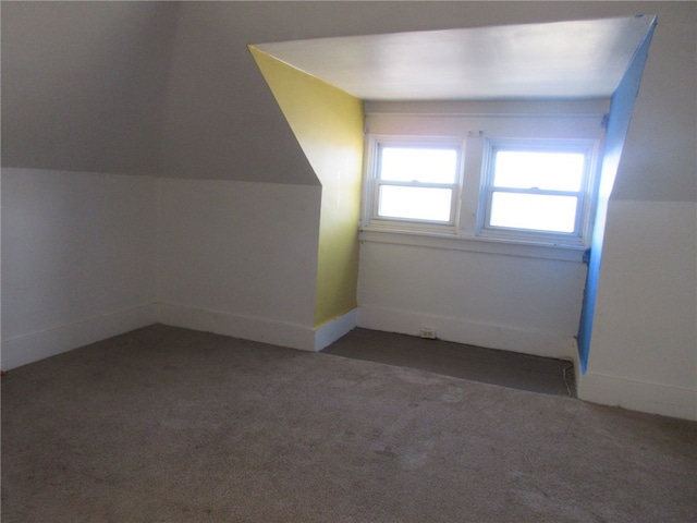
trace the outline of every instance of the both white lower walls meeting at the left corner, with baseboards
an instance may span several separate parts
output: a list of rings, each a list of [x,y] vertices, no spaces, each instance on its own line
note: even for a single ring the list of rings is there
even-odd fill
[[[315,349],[320,191],[4,168],[1,368],[156,321]]]

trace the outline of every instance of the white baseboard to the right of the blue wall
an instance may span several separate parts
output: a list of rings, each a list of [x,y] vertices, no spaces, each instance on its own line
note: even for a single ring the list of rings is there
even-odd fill
[[[591,403],[697,421],[697,390],[590,373],[576,388],[578,398]]]

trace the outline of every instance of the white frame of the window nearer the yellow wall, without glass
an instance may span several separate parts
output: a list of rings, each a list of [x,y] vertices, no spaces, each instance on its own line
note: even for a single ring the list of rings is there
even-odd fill
[[[423,147],[454,149],[457,154],[455,180],[453,183],[395,182],[380,178],[381,150],[384,147]],[[464,157],[466,139],[464,136],[415,136],[369,134],[366,141],[366,184],[364,191],[363,226],[370,229],[403,230],[412,232],[432,232],[456,234],[458,230],[462,187],[464,181]],[[450,219],[445,221],[414,218],[383,217],[378,214],[381,186],[435,187],[452,191]]]

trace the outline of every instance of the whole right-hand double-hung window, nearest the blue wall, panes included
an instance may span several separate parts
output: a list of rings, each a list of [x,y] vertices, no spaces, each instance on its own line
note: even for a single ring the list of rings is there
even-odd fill
[[[580,243],[587,220],[592,144],[488,143],[484,234]]]

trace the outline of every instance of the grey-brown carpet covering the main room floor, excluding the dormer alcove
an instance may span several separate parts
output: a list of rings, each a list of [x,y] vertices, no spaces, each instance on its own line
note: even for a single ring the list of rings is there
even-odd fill
[[[696,436],[152,326],[2,378],[2,522],[695,522]]]

